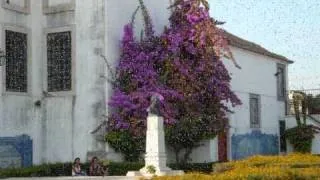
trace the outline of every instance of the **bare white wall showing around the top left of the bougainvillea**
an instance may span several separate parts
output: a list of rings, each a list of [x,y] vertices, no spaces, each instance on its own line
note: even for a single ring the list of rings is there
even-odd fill
[[[169,0],[144,1],[152,18],[154,29],[159,34],[163,31],[165,25],[168,24],[169,18]],[[138,7],[138,1],[106,1],[106,57],[109,62],[116,65],[120,53],[120,41],[123,36],[123,27],[131,21],[133,12]],[[135,19],[135,35],[140,38],[140,32],[143,28],[143,19],[141,10],[137,13]],[[108,72],[108,71],[107,71]],[[106,89],[110,89],[107,86]],[[110,97],[111,92],[107,92],[106,97]]]

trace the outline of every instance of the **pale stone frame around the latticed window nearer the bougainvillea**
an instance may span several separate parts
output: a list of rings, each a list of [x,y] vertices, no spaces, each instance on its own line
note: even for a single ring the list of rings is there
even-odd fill
[[[70,91],[54,91],[48,92],[48,56],[47,56],[47,35],[50,33],[59,33],[70,31],[71,33],[71,90]],[[46,28],[44,29],[44,46],[43,46],[43,90],[48,92],[54,96],[73,96],[76,93],[76,35],[75,35],[75,26],[63,26],[63,27],[55,27],[55,28]]]

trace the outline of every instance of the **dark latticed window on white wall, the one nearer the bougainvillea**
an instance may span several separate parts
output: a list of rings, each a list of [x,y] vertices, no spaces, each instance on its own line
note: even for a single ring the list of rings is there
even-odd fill
[[[47,34],[48,92],[72,90],[71,31]]]

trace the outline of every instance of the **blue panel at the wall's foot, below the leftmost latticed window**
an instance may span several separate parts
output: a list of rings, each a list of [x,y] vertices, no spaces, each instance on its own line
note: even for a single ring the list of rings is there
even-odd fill
[[[0,137],[0,168],[29,166],[32,166],[30,136]]]

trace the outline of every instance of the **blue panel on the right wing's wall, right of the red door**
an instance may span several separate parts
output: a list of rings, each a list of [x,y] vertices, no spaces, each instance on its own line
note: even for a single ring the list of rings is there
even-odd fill
[[[243,159],[252,155],[276,155],[279,153],[277,135],[264,134],[260,130],[232,135],[232,159]]]

